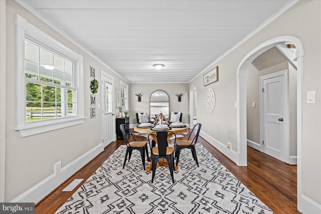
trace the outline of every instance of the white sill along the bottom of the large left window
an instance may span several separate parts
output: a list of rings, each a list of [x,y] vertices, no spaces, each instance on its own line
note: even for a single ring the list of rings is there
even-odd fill
[[[34,135],[34,134],[40,134],[40,133],[44,133],[47,131],[52,131],[52,130],[56,130],[56,129],[61,129],[61,128],[69,127],[69,126],[78,125],[78,124],[83,123],[85,118],[86,117],[72,118],[72,119],[60,120],[60,121],[50,121],[50,122],[48,121],[49,123],[37,124],[34,126],[25,126],[25,127],[21,127],[21,128],[16,128],[16,130],[19,131],[19,133],[22,137],[27,137],[27,136]]]

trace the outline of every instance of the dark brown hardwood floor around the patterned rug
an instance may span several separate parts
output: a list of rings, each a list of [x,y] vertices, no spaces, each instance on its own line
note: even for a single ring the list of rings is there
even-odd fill
[[[188,136],[185,136],[186,138]],[[135,137],[136,138],[136,137]],[[136,138],[136,140],[139,137]],[[141,139],[143,140],[143,139]],[[296,165],[288,165],[251,147],[247,147],[247,167],[239,167],[202,137],[199,141],[245,186],[276,214],[300,213],[296,209]],[[110,143],[95,159],[76,172],[35,206],[35,213],[54,213],[87,180],[90,175],[120,146],[123,140]],[[83,178],[73,191],[62,192],[76,178]]]

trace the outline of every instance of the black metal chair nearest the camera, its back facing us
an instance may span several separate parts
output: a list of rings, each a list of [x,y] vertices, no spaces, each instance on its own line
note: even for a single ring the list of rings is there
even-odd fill
[[[169,146],[168,144],[168,135],[169,134],[173,134],[175,136],[175,142],[174,142],[174,147],[173,146]],[[151,139],[149,138],[150,135],[155,135],[156,139],[157,139],[157,146],[152,146],[152,143],[150,142]],[[171,177],[174,181],[174,170],[175,170],[175,163],[174,163],[174,153],[175,153],[175,146],[176,146],[176,134],[172,131],[153,131],[151,133],[148,134],[148,144],[149,144],[149,148],[151,151],[151,161],[152,161],[152,175],[151,175],[151,182],[153,182],[154,180],[154,176],[155,176],[155,171],[156,171],[156,166],[157,166],[157,162],[159,159],[161,158],[165,158],[168,162],[169,168],[170,168],[170,172],[171,172]]]

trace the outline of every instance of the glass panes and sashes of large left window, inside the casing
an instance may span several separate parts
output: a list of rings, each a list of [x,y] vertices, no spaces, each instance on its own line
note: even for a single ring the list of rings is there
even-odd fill
[[[25,39],[26,122],[77,115],[74,62]]]

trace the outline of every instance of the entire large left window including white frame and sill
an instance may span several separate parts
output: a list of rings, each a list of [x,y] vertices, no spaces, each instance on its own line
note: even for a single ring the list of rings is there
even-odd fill
[[[83,59],[17,15],[17,121],[22,136],[83,122]]]

